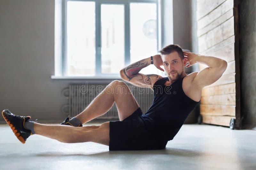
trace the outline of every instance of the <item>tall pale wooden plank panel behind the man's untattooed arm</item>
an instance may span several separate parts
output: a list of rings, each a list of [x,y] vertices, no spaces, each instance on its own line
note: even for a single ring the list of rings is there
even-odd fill
[[[230,119],[239,117],[240,92],[237,83],[235,48],[236,16],[234,0],[197,0],[197,36],[199,54],[221,58],[228,62],[221,78],[204,87],[200,102],[203,123],[229,126]],[[208,66],[199,64],[199,70]],[[238,81],[239,82],[239,81]],[[237,108],[236,108],[237,106]],[[237,120],[237,121],[239,121]]]

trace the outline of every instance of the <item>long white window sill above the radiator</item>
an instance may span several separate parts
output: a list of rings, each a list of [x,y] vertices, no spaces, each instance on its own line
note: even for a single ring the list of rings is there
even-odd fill
[[[54,80],[122,80],[121,77],[86,77],[86,76],[55,76],[51,75]]]

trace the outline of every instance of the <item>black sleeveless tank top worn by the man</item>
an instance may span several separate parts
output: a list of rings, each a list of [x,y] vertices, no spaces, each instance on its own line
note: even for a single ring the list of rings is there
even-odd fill
[[[185,77],[185,76],[184,76]],[[185,122],[189,113],[195,109],[196,102],[189,98],[182,89],[183,78],[165,86],[168,77],[155,82],[154,100],[141,119],[148,131],[158,139],[172,140]]]

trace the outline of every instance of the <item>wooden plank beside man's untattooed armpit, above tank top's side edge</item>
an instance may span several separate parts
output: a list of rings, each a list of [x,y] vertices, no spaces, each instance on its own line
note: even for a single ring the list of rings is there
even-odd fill
[[[236,93],[236,83],[224,84],[214,87],[204,87],[201,96],[215,96]]]

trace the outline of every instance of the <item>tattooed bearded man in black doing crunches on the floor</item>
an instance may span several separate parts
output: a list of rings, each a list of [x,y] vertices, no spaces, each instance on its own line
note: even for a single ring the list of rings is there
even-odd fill
[[[199,103],[202,89],[221,77],[227,62],[183,52],[178,45],[166,46],[159,52],[161,55],[140,60],[120,71],[123,80],[154,90],[153,104],[144,115],[127,85],[123,81],[112,81],[82,113],[62,123],[70,126],[38,124],[36,120],[29,120],[29,116],[16,116],[9,110],[2,112],[3,117],[22,143],[30,135],[38,134],[64,143],[95,142],[108,145],[109,150],[163,149]],[[195,63],[208,67],[187,75],[184,66],[190,67]],[[165,70],[167,77],[139,73],[150,64]],[[122,88],[118,88],[120,86]],[[126,93],[121,91],[124,89]],[[119,121],[82,126],[106,113],[114,102]]]

